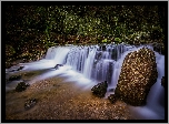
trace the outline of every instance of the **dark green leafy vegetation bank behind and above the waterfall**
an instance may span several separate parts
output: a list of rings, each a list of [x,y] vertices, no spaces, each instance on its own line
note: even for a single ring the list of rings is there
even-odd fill
[[[38,60],[57,44],[163,43],[165,9],[163,6],[7,6],[6,63]]]

